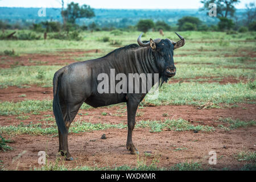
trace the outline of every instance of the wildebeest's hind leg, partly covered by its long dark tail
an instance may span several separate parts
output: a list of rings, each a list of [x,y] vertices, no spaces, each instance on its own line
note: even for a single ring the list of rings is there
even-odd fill
[[[63,112],[63,118],[64,118],[65,127],[67,128],[67,131],[69,130],[69,127],[72,121],[75,119],[76,114],[79,111],[83,102],[84,101],[81,101],[81,102],[66,101],[62,103],[61,110]],[[73,160],[68,150],[68,132],[65,134],[61,134],[59,132],[59,141],[60,141],[59,151],[61,152],[61,155],[65,156],[66,160]]]

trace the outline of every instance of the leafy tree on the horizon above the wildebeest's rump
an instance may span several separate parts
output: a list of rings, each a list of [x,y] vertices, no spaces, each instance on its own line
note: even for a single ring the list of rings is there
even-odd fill
[[[71,2],[68,4],[67,10],[63,11],[64,19],[68,23],[75,24],[78,18],[92,18],[95,16],[93,9],[88,5],[79,6],[78,3]]]

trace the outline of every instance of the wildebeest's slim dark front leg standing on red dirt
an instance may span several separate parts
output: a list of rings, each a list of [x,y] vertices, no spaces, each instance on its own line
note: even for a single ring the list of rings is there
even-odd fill
[[[131,151],[131,154],[137,153],[137,148],[133,144],[133,129],[135,126],[135,116],[138,109],[139,101],[137,98],[130,96],[127,100],[127,125],[128,125],[128,135],[126,148]]]

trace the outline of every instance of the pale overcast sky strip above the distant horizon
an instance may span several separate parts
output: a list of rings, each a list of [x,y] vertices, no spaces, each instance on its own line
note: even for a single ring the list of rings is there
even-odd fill
[[[65,4],[72,0],[64,0]],[[80,5],[90,5],[96,9],[199,9],[200,0],[73,0]],[[256,0],[241,0],[237,9]],[[60,0],[0,0],[0,7],[61,7]]]

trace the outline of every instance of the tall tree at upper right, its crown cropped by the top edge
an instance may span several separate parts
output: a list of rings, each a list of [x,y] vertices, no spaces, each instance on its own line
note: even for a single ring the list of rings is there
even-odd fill
[[[200,9],[201,11],[209,10],[209,4],[215,3],[217,6],[217,16],[228,18],[228,16],[234,16],[236,12],[234,5],[240,3],[240,0],[202,0],[201,3],[204,4],[204,7]]]

